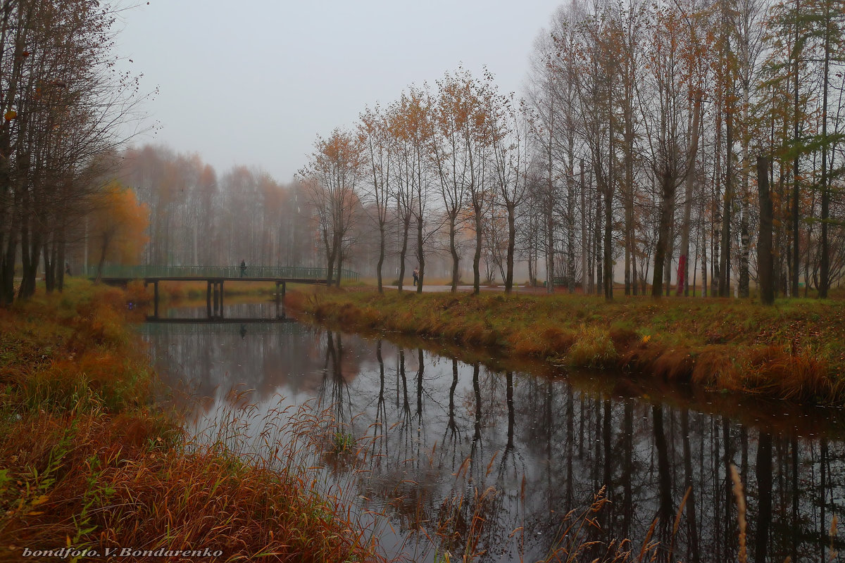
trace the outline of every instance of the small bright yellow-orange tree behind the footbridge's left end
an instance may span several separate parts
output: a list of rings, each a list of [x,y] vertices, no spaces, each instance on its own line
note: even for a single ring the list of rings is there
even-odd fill
[[[88,244],[91,255],[99,257],[97,277],[106,261],[137,263],[147,242],[147,206],[138,202],[135,192],[112,181],[95,196],[93,207]]]

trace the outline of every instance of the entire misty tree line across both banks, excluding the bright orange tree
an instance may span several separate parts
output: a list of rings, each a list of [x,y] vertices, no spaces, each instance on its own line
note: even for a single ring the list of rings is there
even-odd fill
[[[419,268],[417,290],[527,278],[607,299],[842,284],[841,0],[565,3],[524,99],[456,68],[318,136],[288,183],[161,145],[115,154],[133,83],[107,72],[108,14],[2,16],[4,303],[39,264],[60,288],[66,261],[350,268],[379,289]],[[91,241],[110,181],[149,213],[139,256]]]

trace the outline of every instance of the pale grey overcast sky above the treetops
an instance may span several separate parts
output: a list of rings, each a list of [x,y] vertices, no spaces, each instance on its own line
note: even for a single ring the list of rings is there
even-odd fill
[[[150,0],[122,14],[117,53],[161,142],[223,172],[258,165],[289,181],[316,135],[350,127],[462,62],[521,92],[538,32],[560,0]],[[132,59],[131,64],[128,59]]]

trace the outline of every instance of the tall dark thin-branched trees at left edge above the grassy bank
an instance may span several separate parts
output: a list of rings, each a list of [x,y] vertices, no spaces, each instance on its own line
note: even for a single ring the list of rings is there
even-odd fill
[[[42,261],[47,290],[61,289],[68,242],[119,192],[103,191],[106,171],[140,98],[111,55],[113,20],[91,0],[0,3],[0,306],[19,264],[19,298]]]

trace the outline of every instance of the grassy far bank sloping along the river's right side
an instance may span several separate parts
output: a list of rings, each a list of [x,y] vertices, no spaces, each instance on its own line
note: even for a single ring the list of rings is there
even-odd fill
[[[623,368],[717,390],[845,402],[845,302],[373,290],[289,295],[350,329],[413,333],[558,364]]]

